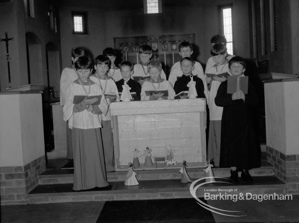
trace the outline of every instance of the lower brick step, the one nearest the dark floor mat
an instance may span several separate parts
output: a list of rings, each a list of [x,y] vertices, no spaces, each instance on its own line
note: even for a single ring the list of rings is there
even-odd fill
[[[219,179],[216,179],[217,181]],[[227,181],[228,180],[223,180]],[[58,202],[79,202],[79,201],[110,201],[110,200],[146,200],[146,199],[170,199],[188,198],[191,183],[181,183],[180,179],[171,180],[139,180],[139,185],[126,186],[124,182],[112,182],[112,189],[100,191],[91,189],[88,191],[73,191],[73,184],[48,184],[38,185],[28,195],[29,204],[37,203],[58,203]],[[202,180],[200,183],[203,183]],[[204,197],[208,189],[219,194],[219,189],[237,189],[237,192],[227,192],[227,194],[251,193],[251,194],[283,194],[286,185],[275,176],[254,177],[251,183],[243,182],[239,177],[239,182],[235,184],[227,183],[208,183],[196,190],[197,197]],[[225,192],[222,191],[222,194]]]

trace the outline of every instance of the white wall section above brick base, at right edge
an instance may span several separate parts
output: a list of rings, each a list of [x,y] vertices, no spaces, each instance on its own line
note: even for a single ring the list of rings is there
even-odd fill
[[[299,154],[299,80],[265,83],[266,140],[285,155]]]

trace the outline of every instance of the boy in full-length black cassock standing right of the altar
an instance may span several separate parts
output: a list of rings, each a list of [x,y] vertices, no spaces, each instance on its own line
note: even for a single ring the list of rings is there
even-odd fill
[[[244,76],[245,62],[240,57],[233,57],[228,64],[232,76]],[[248,170],[261,164],[261,151],[255,139],[252,109],[258,103],[257,95],[251,82],[248,93],[237,91],[227,93],[227,83],[220,84],[215,104],[223,107],[221,121],[220,167],[231,167],[231,180],[238,180],[238,170],[242,171],[242,180],[252,181]]]

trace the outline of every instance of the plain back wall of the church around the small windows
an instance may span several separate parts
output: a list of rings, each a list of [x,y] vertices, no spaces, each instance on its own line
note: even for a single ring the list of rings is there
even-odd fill
[[[132,37],[144,35],[186,34],[196,33],[197,55],[194,59],[206,63],[210,57],[210,38],[219,32],[218,5],[233,2],[234,21],[234,48],[236,53],[242,53],[245,58],[250,57],[249,50],[249,26],[248,26],[248,3],[247,1],[213,1],[213,4],[198,6],[165,6],[162,8],[160,19],[149,27],[147,17],[143,13],[143,8],[132,9],[89,9],[88,26],[89,35],[73,35],[71,11],[79,10],[73,7],[60,8],[60,25],[64,32],[61,33],[62,41],[62,65],[69,66],[70,51],[75,46],[85,46],[92,51],[93,56],[102,54],[106,47],[114,46],[114,37]],[[82,11],[82,8],[80,9]],[[104,14],[104,18],[102,16]],[[149,20],[150,21],[150,20]],[[162,24],[162,27],[160,27]],[[97,26],[97,29],[91,27]],[[106,35],[103,35],[105,32]],[[92,36],[92,37],[91,37]],[[97,39],[97,40],[95,40]],[[95,43],[97,41],[97,43]]]

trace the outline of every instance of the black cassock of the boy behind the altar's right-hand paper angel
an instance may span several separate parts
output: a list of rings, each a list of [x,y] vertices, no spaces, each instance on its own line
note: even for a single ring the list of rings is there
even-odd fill
[[[176,94],[180,93],[181,91],[189,91],[189,87],[187,87],[187,84],[190,82],[190,76],[182,75],[177,81],[174,83],[173,89],[176,92]],[[205,87],[202,83],[202,79],[199,77],[193,76],[193,81],[196,82],[195,88],[197,92],[198,98],[205,98]]]

